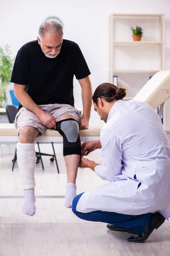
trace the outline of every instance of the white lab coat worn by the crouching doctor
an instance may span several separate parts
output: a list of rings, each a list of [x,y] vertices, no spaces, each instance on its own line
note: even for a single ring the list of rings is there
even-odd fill
[[[128,215],[159,211],[168,219],[170,141],[156,111],[145,102],[117,101],[100,140],[103,165],[95,172],[109,182],[85,192],[77,211]]]

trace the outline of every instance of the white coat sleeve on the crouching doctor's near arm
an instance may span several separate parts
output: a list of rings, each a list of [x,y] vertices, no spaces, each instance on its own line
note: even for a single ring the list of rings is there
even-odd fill
[[[116,175],[122,174],[122,143],[110,129],[102,129],[100,134],[103,164],[94,171],[102,180],[113,181]]]

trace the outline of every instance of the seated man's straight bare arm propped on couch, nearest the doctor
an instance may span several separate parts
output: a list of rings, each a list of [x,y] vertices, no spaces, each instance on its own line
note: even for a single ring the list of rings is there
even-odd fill
[[[91,105],[92,105],[92,89],[91,81],[89,76],[83,79],[79,79],[79,84],[82,88],[82,105],[83,114],[80,119],[80,129],[88,129],[88,123],[91,115]]]

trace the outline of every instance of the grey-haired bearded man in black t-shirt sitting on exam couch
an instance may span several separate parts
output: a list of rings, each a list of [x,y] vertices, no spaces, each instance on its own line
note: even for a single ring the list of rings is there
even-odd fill
[[[74,108],[74,75],[82,88],[83,115]],[[76,177],[81,155],[79,128],[87,129],[91,111],[90,71],[79,46],[63,39],[62,26],[47,21],[39,28],[36,41],[17,53],[11,82],[20,102],[15,119],[19,136],[17,161],[25,190],[23,213],[35,214],[34,140],[47,128],[62,134],[67,169],[65,206],[76,196]],[[79,127],[80,126],[80,127]]]

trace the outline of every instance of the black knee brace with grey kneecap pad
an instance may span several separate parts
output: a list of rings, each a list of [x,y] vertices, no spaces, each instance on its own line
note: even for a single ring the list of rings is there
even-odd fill
[[[79,137],[79,123],[73,119],[65,119],[56,123],[56,130],[63,137],[63,155],[71,154],[81,156],[81,142]]]

